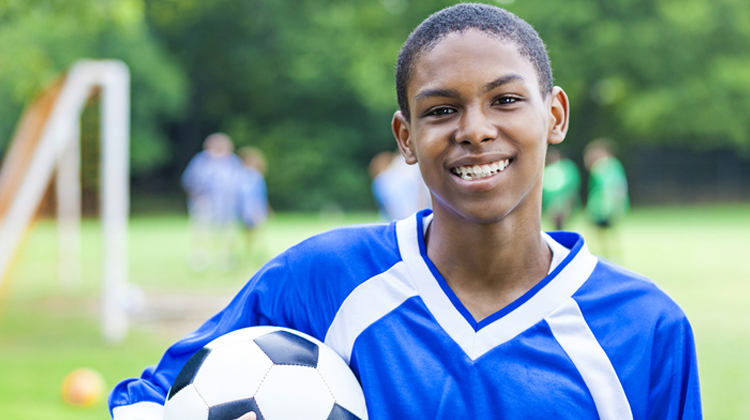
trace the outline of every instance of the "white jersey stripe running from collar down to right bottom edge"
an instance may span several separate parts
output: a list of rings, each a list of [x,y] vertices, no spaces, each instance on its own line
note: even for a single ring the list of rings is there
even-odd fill
[[[602,420],[632,420],[617,372],[572,298],[546,318],[552,334],[573,361]]]

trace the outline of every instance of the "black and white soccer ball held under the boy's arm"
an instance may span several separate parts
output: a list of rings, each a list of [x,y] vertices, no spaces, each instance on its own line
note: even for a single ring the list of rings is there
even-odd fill
[[[362,387],[330,347],[280,327],[236,330],[187,361],[164,420],[365,420]]]

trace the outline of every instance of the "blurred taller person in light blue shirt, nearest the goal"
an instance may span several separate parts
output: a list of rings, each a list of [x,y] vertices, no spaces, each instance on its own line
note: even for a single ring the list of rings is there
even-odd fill
[[[193,231],[188,264],[195,271],[205,271],[211,264],[229,271],[236,263],[236,185],[244,168],[233,150],[228,135],[211,134],[182,174]]]

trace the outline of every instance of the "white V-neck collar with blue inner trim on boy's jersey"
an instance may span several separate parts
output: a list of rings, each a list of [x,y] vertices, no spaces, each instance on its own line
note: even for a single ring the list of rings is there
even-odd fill
[[[401,257],[427,309],[472,360],[543,320],[583,285],[597,264],[580,236],[567,248],[544,234],[553,251],[550,273],[515,302],[477,323],[427,258],[424,233],[431,221],[432,213],[422,211],[396,224]],[[567,255],[560,258],[563,254]]]

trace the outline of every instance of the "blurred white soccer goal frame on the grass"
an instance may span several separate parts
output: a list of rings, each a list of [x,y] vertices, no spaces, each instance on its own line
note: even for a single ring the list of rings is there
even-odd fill
[[[60,280],[80,279],[81,114],[100,96],[102,333],[121,342],[128,330],[130,73],[116,60],[82,60],[25,110],[0,167],[0,286],[50,182],[57,191]]]

